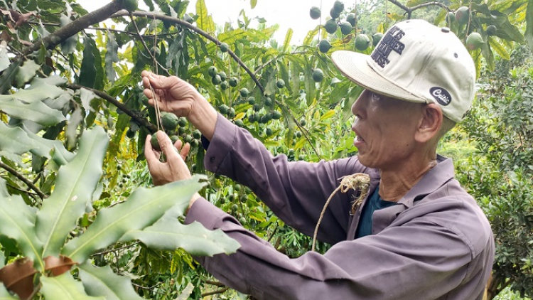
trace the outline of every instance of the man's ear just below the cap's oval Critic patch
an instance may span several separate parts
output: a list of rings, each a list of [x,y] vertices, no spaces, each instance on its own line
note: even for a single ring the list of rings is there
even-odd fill
[[[414,139],[419,143],[426,143],[438,137],[443,122],[443,114],[441,107],[435,103],[423,105],[421,109],[421,119]]]

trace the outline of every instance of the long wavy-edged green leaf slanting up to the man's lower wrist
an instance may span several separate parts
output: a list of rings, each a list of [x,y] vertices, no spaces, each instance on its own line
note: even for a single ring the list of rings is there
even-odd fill
[[[136,189],[124,203],[100,210],[95,222],[83,235],[70,240],[62,254],[75,262],[84,262],[96,250],[117,242],[129,230],[142,230],[154,224],[167,210],[176,216],[183,214],[190,197],[204,186],[198,182],[199,178]]]

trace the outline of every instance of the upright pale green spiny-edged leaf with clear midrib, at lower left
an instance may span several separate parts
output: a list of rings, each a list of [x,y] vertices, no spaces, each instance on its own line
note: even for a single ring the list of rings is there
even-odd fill
[[[43,241],[43,257],[59,255],[77,218],[85,213],[102,176],[108,141],[102,127],[86,131],[75,158],[59,169],[55,189],[37,213],[36,232]]]

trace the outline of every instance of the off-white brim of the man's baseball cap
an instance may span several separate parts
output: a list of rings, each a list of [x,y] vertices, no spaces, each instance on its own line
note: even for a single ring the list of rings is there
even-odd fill
[[[367,90],[409,102],[426,102],[376,73],[367,63],[369,57],[370,55],[362,53],[338,50],[333,52],[331,60],[340,73]]]

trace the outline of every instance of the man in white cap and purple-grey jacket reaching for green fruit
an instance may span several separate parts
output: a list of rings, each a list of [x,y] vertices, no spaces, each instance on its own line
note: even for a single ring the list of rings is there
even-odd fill
[[[325,211],[318,240],[324,255],[290,259],[235,218],[195,195],[186,223],[220,228],[242,247],[233,255],[199,258],[227,286],[257,299],[482,299],[494,258],[488,220],[453,178],[438,140],[461,121],[474,97],[475,68],[448,28],[425,21],[398,23],[372,55],[337,51],[337,68],[364,92],[352,106],[356,157],[318,163],[273,157],[246,130],[215,112],[177,77],[143,73],[145,94],[188,117],[206,142],[205,167],[248,186],[285,223],[313,235],[340,178],[370,176],[362,204],[337,194]],[[154,99],[150,102],[154,104]],[[182,156],[158,134],[168,161],[146,141],[155,184],[188,178]],[[181,146],[181,142],[178,142]],[[357,191],[365,193],[365,191]]]

